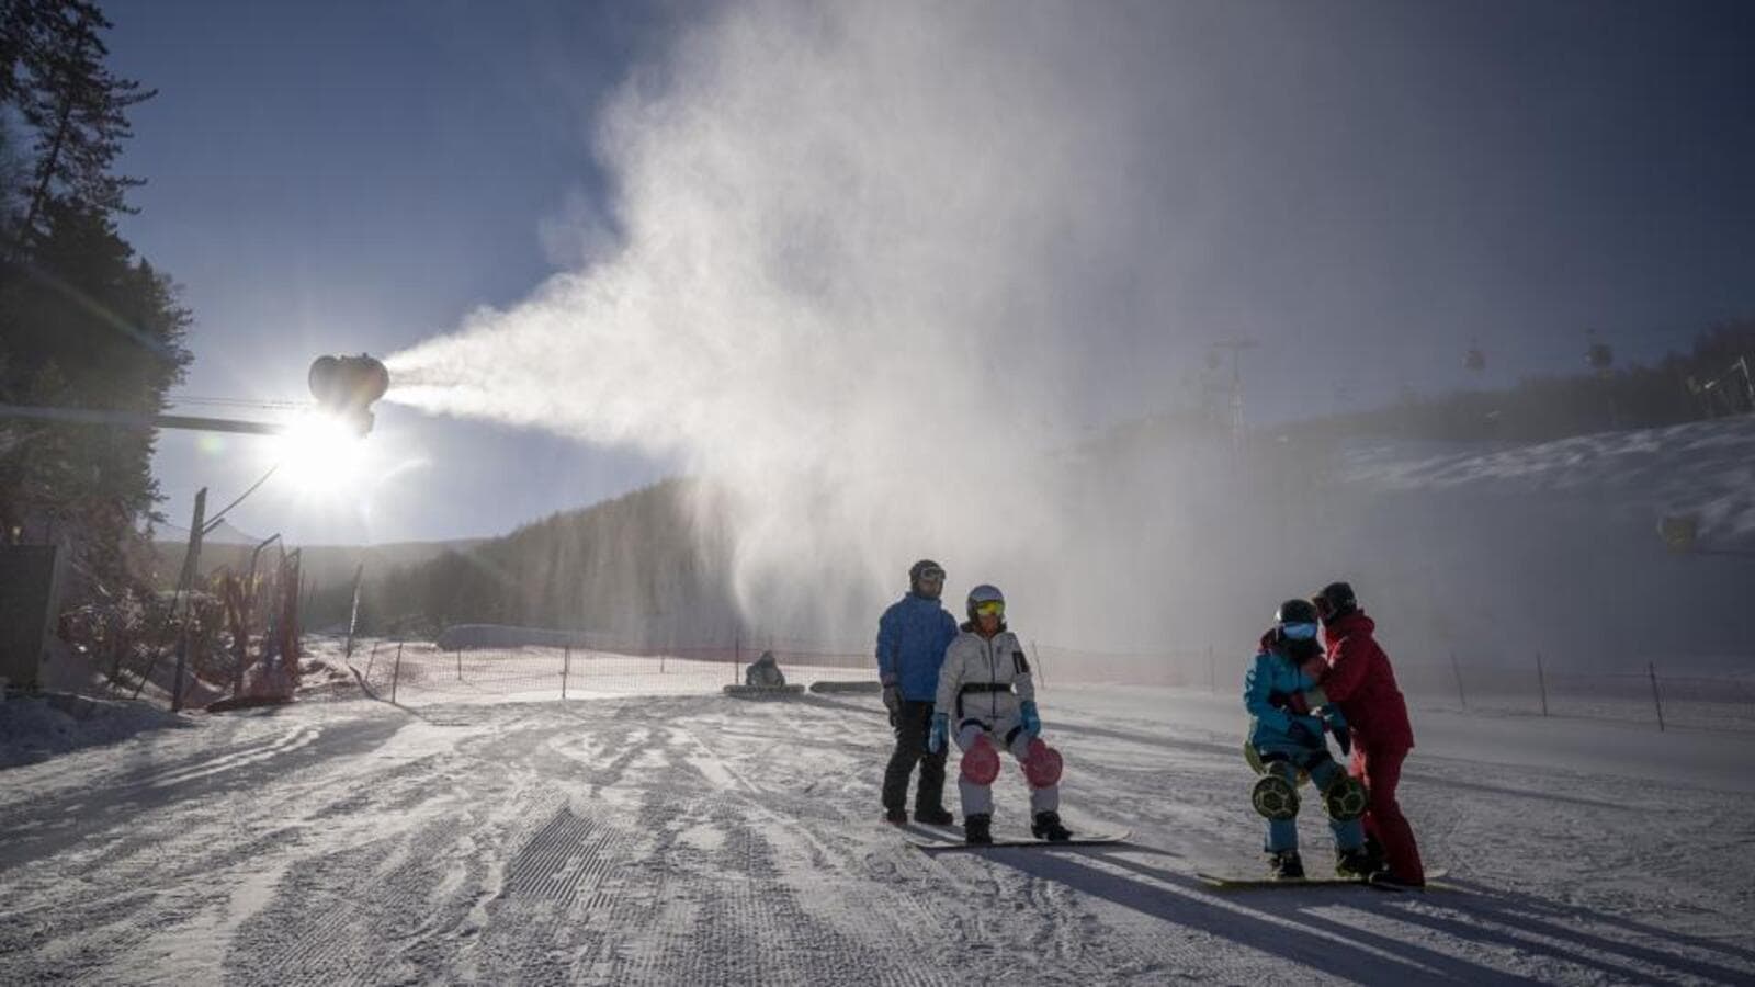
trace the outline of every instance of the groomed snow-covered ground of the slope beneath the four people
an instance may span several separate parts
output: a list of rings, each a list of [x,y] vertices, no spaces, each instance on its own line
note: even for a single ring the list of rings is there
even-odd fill
[[[0,773],[0,982],[1755,980],[1736,734],[1416,710],[1402,801],[1451,887],[1220,894],[1193,871],[1260,866],[1236,701],[1042,704],[1071,825],[1132,843],[904,845],[867,695],[332,699],[70,743]],[[997,797],[1021,829],[1014,767]]]

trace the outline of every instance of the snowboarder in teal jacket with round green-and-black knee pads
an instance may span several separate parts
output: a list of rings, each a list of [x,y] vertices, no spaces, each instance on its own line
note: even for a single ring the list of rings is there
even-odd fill
[[[1309,694],[1323,667],[1322,643],[1316,641],[1316,608],[1293,599],[1279,604],[1274,627],[1262,636],[1260,652],[1243,678],[1243,706],[1250,711],[1250,738],[1244,757],[1260,778],[1250,794],[1255,811],[1267,817],[1269,871],[1281,880],[1304,876],[1299,855],[1299,782],[1309,776],[1323,796],[1329,827],[1334,831],[1336,862],[1341,876],[1371,876],[1365,831],[1358,817],[1365,792],[1346,769],[1329,755],[1325,732],[1334,732],[1343,752],[1348,745],[1346,718],[1332,706],[1314,706]]]

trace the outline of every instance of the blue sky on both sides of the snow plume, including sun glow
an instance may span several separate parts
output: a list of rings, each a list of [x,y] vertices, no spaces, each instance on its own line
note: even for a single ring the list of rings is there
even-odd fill
[[[1093,11],[1127,49],[1128,181],[1144,190],[1113,279],[1150,299],[1153,269],[1127,248],[1186,214],[1202,216],[1204,276],[1174,300],[1199,332],[1158,337],[1135,311],[1143,328],[1086,357],[1123,395],[1092,420],[1157,409],[1207,341],[1239,334],[1264,342],[1244,367],[1253,414],[1274,418],[1329,411],[1337,385],[1355,404],[1458,386],[1471,341],[1488,383],[1509,383],[1580,367],[1587,327],[1639,358],[1755,314],[1748,4]],[[123,167],[147,184],[123,232],[195,311],[181,393],[297,400],[318,353],[397,351],[576,267],[556,220],[612,235],[597,112],[630,76],[662,79],[713,7],[109,14],[116,70],[160,90],[133,112]],[[479,536],[674,469],[390,406],[372,443],[369,506],[288,471],[233,522],[304,543]],[[270,460],[258,439],[165,432],[165,509],[186,515],[198,485],[228,501]]]

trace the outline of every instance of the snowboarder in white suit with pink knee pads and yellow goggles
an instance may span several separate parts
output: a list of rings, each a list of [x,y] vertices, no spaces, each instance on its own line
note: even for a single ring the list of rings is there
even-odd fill
[[[939,673],[937,710],[927,743],[932,752],[946,750],[951,713],[956,713],[956,746],[963,752],[956,778],[963,801],[963,839],[993,841],[997,748],[1018,759],[1030,783],[1030,832],[1053,843],[1071,839],[1072,832],[1060,824],[1058,811],[1060,752],[1041,738],[1035,683],[1023,645],[1006,629],[1006,597],[995,587],[976,587],[969,590],[965,611],[969,623],[951,641]]]

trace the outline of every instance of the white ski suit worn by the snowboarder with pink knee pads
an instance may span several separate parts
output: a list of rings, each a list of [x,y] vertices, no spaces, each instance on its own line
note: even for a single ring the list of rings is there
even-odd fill
[[[1028,755],[1030,734],[1023,731],[1018,704],[1035,701],[1035,681],[1023,645],[1011,630],[983,638],[971,623],[944,652],[939,669],[939,694],[934,710],[949,713],[956,748],[967,752],[986,734],[995,750],[1009,750],[1021,764]],[[963,799],[963,817],[993,813],[993,787],[956,776]],[[1030,815],[1060,810],[1060,785],[1030,789]]]

